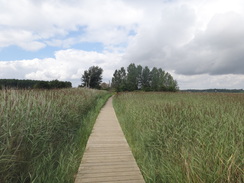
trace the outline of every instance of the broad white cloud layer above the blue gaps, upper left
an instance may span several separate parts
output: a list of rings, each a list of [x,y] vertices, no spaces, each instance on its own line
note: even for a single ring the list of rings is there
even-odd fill
[[[119,44],[126,42],[128,31],[140,19],[139,10],[120,0],[0,1],[0,47],[17,45],[23,49],[37,50],[46,43],[68,47],[82,41]],[[57,36],[64,39],[69,31],[77,31],[81,26],[87,29],[76,41],[68,39],[66,44],[62,44],[56,39]],[[6,31],[8,35],[4,36]],[[56,42],[52,43],[50,39]]]

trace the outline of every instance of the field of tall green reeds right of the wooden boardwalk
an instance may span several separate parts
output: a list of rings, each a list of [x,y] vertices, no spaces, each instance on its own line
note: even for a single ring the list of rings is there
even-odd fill
[[[121,93],[113,103],[146,182],[244,182],[244,94]]]

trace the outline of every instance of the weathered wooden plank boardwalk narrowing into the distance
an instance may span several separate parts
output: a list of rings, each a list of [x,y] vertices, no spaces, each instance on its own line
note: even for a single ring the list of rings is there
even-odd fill
[[[75,183],[144,183],[115,115],[112,98],[100,111]]]

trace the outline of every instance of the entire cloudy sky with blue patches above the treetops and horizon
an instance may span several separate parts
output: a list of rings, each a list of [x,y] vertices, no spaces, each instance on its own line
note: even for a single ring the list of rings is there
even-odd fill
[[[244,89],[243,0],[0,0],[0,79],[71,81],[136,65],[180,89]]]

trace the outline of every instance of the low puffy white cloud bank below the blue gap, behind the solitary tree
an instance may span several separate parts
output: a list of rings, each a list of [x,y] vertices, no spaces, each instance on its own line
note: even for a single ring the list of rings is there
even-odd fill
[[[61,50],[55,58],[0,62],[0,78],[19,78],[34,80],[72,81],[73,86],[80,84],[85,70],[96,65],[104,69],[103,78],[111,80],[115,69],[121,64],[121,55],[109,52],[97,53],[81,50]]]

